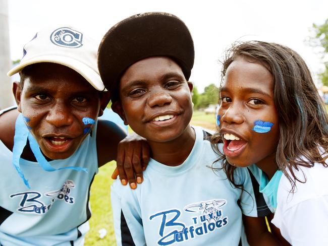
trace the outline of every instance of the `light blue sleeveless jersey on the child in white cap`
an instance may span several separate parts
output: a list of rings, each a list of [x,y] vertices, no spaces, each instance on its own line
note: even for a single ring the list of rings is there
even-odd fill
[[[1,112],[0,112],[1,114]],[[94,128],[96,133],[96,124]],[[0,244],[5,246],[83,245],[89,229],[89,189],[98,171],[96,134],[88,135],[75,153],[52,160],[48,172],[37,162],[20,159],[28,189],[12,164],[13,153],[0,141]]]

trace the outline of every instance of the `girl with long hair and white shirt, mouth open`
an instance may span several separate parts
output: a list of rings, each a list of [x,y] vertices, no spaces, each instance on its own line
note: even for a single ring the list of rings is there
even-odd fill
[[[294,50],[261,41],[228,50],[212,145],[233,183],[237,166],[257,174],[272,223],[292,245],[328,245],[327,119]]]

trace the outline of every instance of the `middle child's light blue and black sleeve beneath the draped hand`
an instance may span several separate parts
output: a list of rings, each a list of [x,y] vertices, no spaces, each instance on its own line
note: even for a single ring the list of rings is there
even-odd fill
[[[137,192],[129,186],[122,186],[119,179],[113,182],[111,201],[115,236],[119,246],[146,245]]]

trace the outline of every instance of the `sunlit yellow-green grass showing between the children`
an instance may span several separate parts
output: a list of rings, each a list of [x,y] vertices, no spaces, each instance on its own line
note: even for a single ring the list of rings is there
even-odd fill
[[[201,111],[194,111],[191,119],[191,125],[201,126],[209,130],[215,130],[215,115],[205,114]],[[129,128],[129,132],[131,129]],[[116,245],[113,212],[111,207],[110,193],[113,180],[111,174],[115,169],[115,161],[109,162],[99,168],[99,172],[95,175],[91,191],[90,205],[92,216],[89,220],[90,231],[85,237],[84,245],[111,246]],[[99,237],[99,230],[105,228],[107,234],[104,238]]]

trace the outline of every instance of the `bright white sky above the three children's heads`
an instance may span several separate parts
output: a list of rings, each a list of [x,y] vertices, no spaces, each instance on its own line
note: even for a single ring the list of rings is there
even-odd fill
[[[312,24],[328,18],[323,0],[126,0],[50,1],[8,0],[10,51],[22,57],[23,45],[42,27],[71,24],[98,41],[117,22],[137,13],[169,12],[188,26],[195,44],[195,65],[190,81],[200,92],[210,83],[218,85],[224,50],[236,40],[259,39],[285,44],[307,61],[313,74],[323,69],[320,55],[304,40]],[[170,37],[168,37],[170,38]]]

